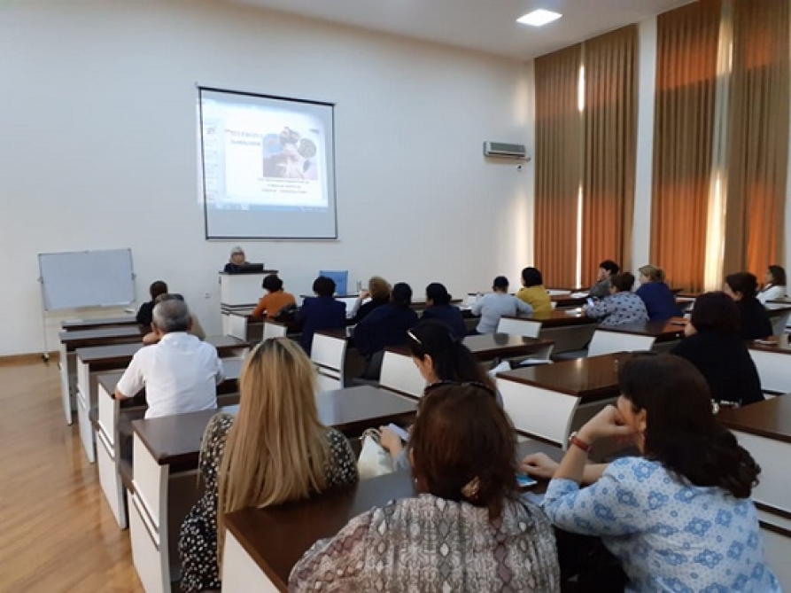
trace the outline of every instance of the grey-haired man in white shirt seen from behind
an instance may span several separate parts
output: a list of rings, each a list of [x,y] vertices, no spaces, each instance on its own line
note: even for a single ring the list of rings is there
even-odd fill
[[[145,417],[171,416],[217,407],[217,385],[225,378],[217,349],[188,333],[190,309],[183,300],[163,300],[151,327],[159,343],[143,347],[115,387],[116,399],[145,387]]]

